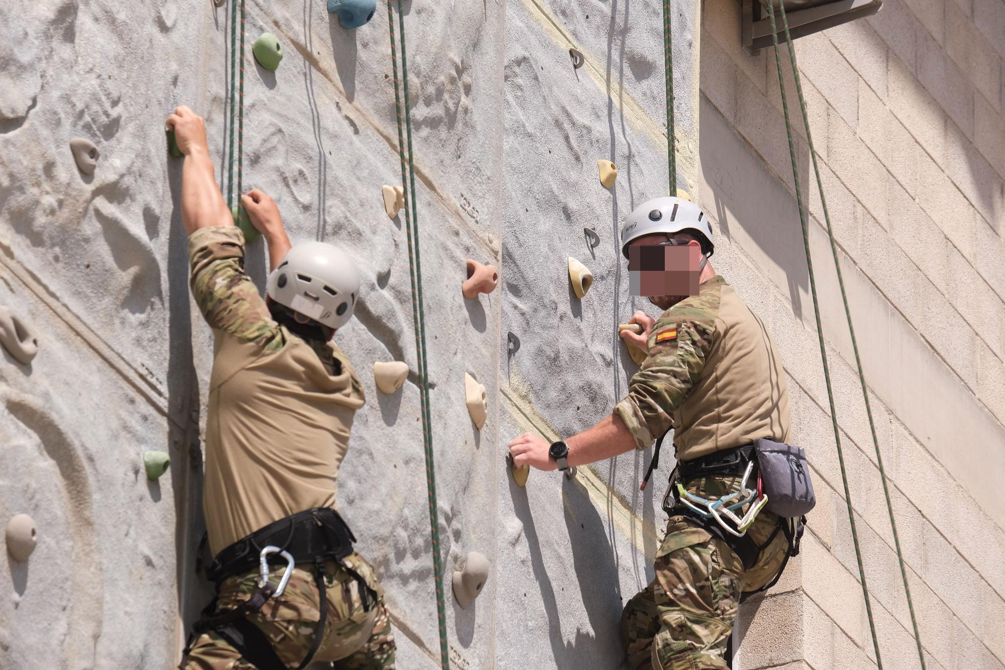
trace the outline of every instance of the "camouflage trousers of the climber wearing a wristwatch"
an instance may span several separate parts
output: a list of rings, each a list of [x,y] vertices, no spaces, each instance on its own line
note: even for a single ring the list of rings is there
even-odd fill
[[[706,477],[687,490],[716,499],[739,488],[736,477]],[[671,512],[674,510],[671,510]],[[762,510],[748,534],[764,544],[778,517]],[[744,591],[756,591],[778,573],[788,542],[782,533],[745,571],[725,541],[684,514],[672,514],[656,552],[655,579],[621,614],[621,644],[631,670],[720,670]]]

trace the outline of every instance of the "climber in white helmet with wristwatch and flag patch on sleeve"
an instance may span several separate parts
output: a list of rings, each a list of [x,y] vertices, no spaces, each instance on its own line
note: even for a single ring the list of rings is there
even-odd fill
[[[648,294],[664,311],[655,319],[635,312],[631,321],[641,334],[621,337],[648,357],[610,416],[553,444],[521,435],[510,443],[515,465],[592,463],[645,449],[672,427],[671,484],[717,499],[740,490],[756,438],[785,441],[789,397],[781,359],[761,319],[709,263],[712,239],[705,213],[682,198],[656,198],[631,213],[621,244],[632,292]],[[621,617],[628,665],[728,668],[741,597],[780,575],[796,529],[764,510],[737,537],[682,504],[672,485],[663,509],[669,520],[655,579]]]

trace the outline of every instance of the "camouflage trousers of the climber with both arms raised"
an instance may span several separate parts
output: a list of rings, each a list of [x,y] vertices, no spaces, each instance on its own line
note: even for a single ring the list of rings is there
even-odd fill
[[[375,604],[373,595],[368,594],[370,611],[365,611],[355,577],[338,562],[325,562],[328,617],[325,637],[314,660],[334,662],[336,670],[393,670],[396,647],[384,607],[384,592],[363,556],[353,553],[345,563],[377,592],[379,599]],[[278,567],[272,571],[273,585],[278,585],[284,570]],[[225,580],[217,597],[217,609],[234,608],[249,600],[258,591],[257,580],[257,572]],[[321,618],[319,604],[314,570],[296,567],[282,595],[269,599],[249,620],[271,641],[279,660],[295,668],[314,643]],[[254,670],[255,666],[242,659],[223,637],[210,631],[196,639],[182,668]]]

